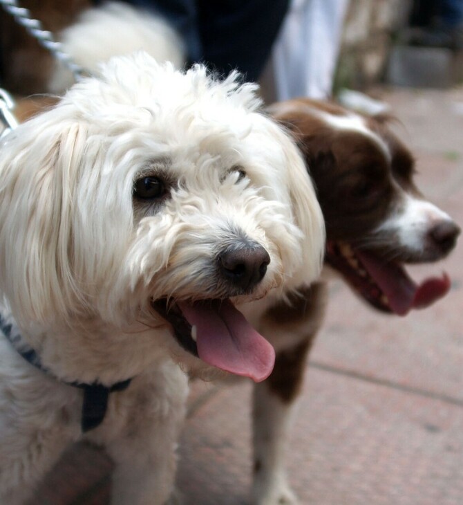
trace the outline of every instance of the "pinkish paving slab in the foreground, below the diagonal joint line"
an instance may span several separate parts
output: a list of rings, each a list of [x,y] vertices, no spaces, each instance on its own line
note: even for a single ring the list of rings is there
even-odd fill
[[[189,421],[185,505],[249,503],[250,389],[225,389]],[[302,504],[457,505],[462,422],[461,406],[309,367],[290,480]]]

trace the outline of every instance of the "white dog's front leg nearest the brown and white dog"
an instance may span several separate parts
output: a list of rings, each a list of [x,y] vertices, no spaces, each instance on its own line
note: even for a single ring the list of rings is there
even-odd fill
[[[133,384],[131,421],[120,437],[106,443],[115,462],[111,505],[178,503],[173,496],[175,451],[188,385],[177,365],[169,365],[165,372]]]

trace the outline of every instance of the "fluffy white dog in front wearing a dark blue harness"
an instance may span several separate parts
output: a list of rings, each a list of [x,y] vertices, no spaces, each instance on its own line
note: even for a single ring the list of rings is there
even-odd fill
[[[117,57],[3,140],[1,504],[23,504],[82,437],[115,461],[113,504],[163,504],[182,369],[272,371],[234,305],[312,282],[324,229],[254,91]]]

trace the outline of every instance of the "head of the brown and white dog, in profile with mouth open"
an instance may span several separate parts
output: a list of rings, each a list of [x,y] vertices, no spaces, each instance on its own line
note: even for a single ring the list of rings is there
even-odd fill
[[[292,130],[316,183],[325,261],[381,311],[406,315],[443,296],[447,277],[417,286],[401,265],[442,259],[460,228],[417,190],[413,156],[388,118],[307,99],[271,110]]]

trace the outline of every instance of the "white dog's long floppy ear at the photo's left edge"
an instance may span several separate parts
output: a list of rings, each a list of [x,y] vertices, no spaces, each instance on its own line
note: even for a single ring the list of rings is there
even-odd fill
[[[86,131],[49,111],[0,145],[0,291],[18,322],[66,318],[79,290],[71,214]]]

